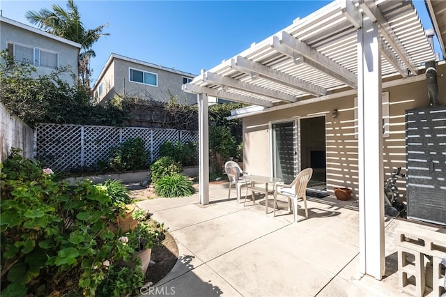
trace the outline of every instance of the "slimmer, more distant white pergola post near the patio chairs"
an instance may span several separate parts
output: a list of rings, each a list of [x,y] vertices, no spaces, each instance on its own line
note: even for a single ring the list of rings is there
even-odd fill
[[[208,95],[197,96],[199,112],[199,197],[200,204],[209,204],[209,112]]]

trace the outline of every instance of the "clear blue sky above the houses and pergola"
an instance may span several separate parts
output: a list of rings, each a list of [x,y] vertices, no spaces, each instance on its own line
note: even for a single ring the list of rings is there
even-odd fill
[[[87,29],[109,23],[110,36],[93,45],[93,83],[112,52],[198,75],[330,2],[75,0]],[[53,3],[66,8],[66,1],[1,0],[0,9],[29,24],[26,11]],[[432,28],[424,0],[413,3],[424,29]]]

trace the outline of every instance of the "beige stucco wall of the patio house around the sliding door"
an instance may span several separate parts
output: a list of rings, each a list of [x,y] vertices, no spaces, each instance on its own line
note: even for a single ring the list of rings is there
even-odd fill
[[[446,66],[438,67],[440,104],[446,104]],[[426,80],[383,89],[389,92],[390,137],[383,141],[384,172],[389,174],[394,167],[406,171],[405,112],[406,109],[429,106]],[[243,167],[252,174],[270,174],[269,123],[294,119],[295,117],[325,114],[327,188],[348,187],[357,197],[357,139],[355,138],[354,96],[325,100],[311,105],[301,105],[275,112],[266,112],[243,119],[244,153]],[[336,119],[332,110],[338,109]],[[374,139],[367,139],[374,142]],[[386,176],[387,178],[387,176]],[[400,190],[405,190],[403,182]]]

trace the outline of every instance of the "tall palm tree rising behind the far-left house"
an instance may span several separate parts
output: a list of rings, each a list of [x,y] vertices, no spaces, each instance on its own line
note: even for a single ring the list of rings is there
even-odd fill
[[[89,63],[90,59],[95,57],[95,52],[91,47],[102,36],[110,35],[109,33],[102,33],[102,30],[109,24],[102,24],[95,29],[85,29],[81,22],[79,10],[73,0],[68,0],[67,10],[57,4],[53,4],[51,7],[52,10],[42,8],[38,12],[29,10],[25,17],[31,24],[38,25],[40,29],[48,33],[82,45],[77,61],[78,79],[81,84],[90,88],[91,69]]]

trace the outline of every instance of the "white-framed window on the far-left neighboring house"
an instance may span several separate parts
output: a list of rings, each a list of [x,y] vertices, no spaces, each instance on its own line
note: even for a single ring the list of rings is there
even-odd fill
[[[58,54],[38,47],[29,47],[17,43],[8,43],[8,51],[15,61],[36,66],[57,68]]]

